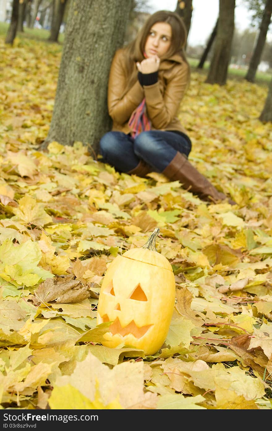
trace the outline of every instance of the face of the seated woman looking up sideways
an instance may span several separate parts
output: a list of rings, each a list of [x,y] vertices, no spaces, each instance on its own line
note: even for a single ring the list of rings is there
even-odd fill
[[[156,22],[150,28],[144,51],[147,58],[157,55],[162,57],[171,45],[172,29],[167,22]]]

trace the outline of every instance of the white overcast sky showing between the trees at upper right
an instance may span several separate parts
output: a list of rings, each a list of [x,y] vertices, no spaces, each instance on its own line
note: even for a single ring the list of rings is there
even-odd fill
[[[244,30],[250,27],[251,12],[244,6],[244,0],[236,0],[235,27]],[[147,0],[149,12],[167,9],[175,10],[177,0]],[[188,42],[190,45],[204,44],[210,36],[217,20],[219,0],[193,0],[193,13]],[[268,40],[272,39],[272,24],[269,28]]]

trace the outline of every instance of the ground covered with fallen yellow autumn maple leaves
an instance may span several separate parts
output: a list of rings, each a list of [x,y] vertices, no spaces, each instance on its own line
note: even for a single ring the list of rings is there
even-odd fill
[[[0,39],[2,409],[272,408],[272,127],[267,87],[192,73],[190,161],[237,202],[160,174],[119,174],[82,143],[49,145],[60,47]],[[154,228],[176,304],[162,349],[101,345],[104,273]]]

